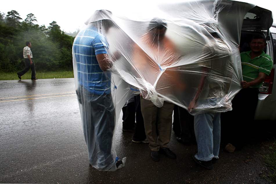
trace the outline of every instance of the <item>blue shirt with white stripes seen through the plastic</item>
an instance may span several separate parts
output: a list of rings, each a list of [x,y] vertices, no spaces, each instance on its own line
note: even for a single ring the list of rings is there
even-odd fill
[[[80,85],[93,94],[110,94],[111,73],[103,72],[96,55],[107,53],[106,38],[93,29],[82,30],[73,43],[73,54],[77,62]]]

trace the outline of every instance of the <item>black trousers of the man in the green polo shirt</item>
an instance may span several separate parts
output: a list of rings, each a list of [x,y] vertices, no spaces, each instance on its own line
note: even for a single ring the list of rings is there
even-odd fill
[[[258,104],[257,88],[242,89],[232,100],[232,111],[221,113],[222,141],[241,149],[250,135]]]

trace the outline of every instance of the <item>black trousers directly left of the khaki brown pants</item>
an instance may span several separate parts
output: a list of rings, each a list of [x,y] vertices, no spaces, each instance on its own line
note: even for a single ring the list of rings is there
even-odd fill
[[[134,97],[135,99],[135,112],[136,112],[136,128],[133,135],[134,140],[145,140],[146,139],[146,133],[145,133],[145,125],[144,125],[144,119],[141,112],[141,100],[140,100],[140,94],[136,95]]]

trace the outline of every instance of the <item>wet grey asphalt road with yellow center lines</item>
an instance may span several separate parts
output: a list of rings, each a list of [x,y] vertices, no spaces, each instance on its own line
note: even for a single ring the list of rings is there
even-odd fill
[[[0,183],[270,183],[261,177],[270,142],[221,151],[210,171],[192,160],[196,146],[178,143],[174,133],[169,147],[177,159],[152,161],[147,144],[121,131],[121,119],[115,146],[126,167],[99,172],[89,166],[73,78],[0,81]]]

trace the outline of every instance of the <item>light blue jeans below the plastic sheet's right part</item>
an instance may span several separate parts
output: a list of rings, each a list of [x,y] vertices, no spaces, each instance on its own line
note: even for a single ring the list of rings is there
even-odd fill
[[[220,112],[202,113],[194,116],[194,133],[197,142],[197,160],[209,161],[219,158],[221,133]]]

